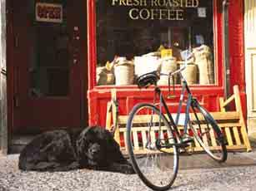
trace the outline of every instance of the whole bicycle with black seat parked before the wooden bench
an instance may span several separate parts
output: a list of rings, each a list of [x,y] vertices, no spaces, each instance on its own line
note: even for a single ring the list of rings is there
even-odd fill
[[[193,148],[194,140],[198,141],[206,153],[219,163],[226,161],[228,156],[226,140],[217,122],[208,113],[208,110],[199,105],[198,100],[192,96],[188,83],[183,77],[182,71],[187,64],[186,59],[184,66],[177,71],[170,74],[153,71],[139,76],[137,80],[139,88],[154,86],[154,99],[153,104],[138,103],[134,105],[129,113],[126,134],[128,155],[139,178],[154,190],[167,190],[173,185],[178,174],[178,155],[189,145]],[[168,110],[162,91],[157,86],[160,75],[168,75],[169,93],[171,77],[179,75],[181,78],[182,91],[175,121]],[[188,95],[186,100],[185,93]],[[157,96],[159,104],[156,103]],[[185,103],[185,119],[182,133],[178,130],[178,121],[183,103]],[[192,112],[189,113],[189,110]],[[143,130],[146,130],[146,134],[143,133]],[[133,132],[137,132],[141,136],[135,138]],[[135,142],[137,143],[135,144]],[[144,154],[137,154],[138,149],[143,149]]]

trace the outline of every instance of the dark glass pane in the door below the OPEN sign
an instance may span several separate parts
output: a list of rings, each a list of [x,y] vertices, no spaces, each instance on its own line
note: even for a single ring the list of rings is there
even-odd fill
[[[68,28],[63,22],[34,22],[33,52],[30,72],[30,96],[68,96],[69,94],[69,51]]]

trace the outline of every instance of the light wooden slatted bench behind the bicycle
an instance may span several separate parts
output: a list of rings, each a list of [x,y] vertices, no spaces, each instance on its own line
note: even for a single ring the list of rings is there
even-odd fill
[[[235,110],[226,111],[225,107],[229,105],[232,101],[234,101],[235,103]],[[114,139],[117,140],[120,144],[123,154],[126,154],[128,152],[126,144],[126,124],[128,121],[128,115],[118,115],[118,108],[115,103],[117,103],[117,97],[115,90],[113,90],[112,100],[108,102],[106,128],[110,131],[113,131]],[[211,115],[213,115],[213,118],[217,121],[219,127],[223,130],[223,133],[226,136],[226,140],[228,142],[227,149],[251,151],[252,148],[248,140],[246,125],[243,119],[238,86],[233,86],[233,96],[230,96],[228,100],[225,101],[223,100],[223,98],[220,98],[219,103],[220,111],[211,112]],[[136,120],[138,120],[139,123],[146,124],[148,122],[148,117],[149,115],[140,115]],[[198,118],[199,120],[204,120],[203,115],[198,115]],[[195,120],[193,115],[190,116],[190,119]],[[182,131],[183,125],[178,125],[178,130]],[[133,144],[139,154],[144,153],[143,145],[145,144],[147,131],[147,127],[137,128],[133,131]],[[167,128],[163,128],[161,135],[168,133],[169,132]],[[210,130],[210,135],[214,136],[212,130]],[[214,141],[214,139],[211,139],[211,143],[207,143],[207,141],[204,141],[204,143],[208,145],[210,144],[210,149],[215,149],[217,148],[217,144]],[[203,148],[198,144],[197,141],[195,141],[194,151],[202,150]]]

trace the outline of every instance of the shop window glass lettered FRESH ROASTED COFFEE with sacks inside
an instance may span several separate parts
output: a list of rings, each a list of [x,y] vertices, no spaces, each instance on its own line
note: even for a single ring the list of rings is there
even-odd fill
[[[183,65],[190,85],[215,84],[213,1],[98,0],[96,3],[98,86],[134,85],[148,71]],[[159,85],[168,85],[161,77]],[[175,84],[180,81],[175,78]]]

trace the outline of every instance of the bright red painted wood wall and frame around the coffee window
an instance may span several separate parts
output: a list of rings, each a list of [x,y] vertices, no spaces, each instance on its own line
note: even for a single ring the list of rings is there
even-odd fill
[[[218,99],[224,95],[224,67],[223,67],[223,20],[222,1],[213,0],[214,4],[214,42],[217,83],[214,86],[191,86],[193,96],[203,102],[210,111],[219,110]],[[229,61],[230,61],[230,92],[238,85],[241,91],[243,115],[246,112],[246,94],[244,77],[243,51],[243,0],[231,0],[229,3]],[[117,90],[119,115],[128,115],[133,105],[138,102],[153,100],[153,88],[138,89],[137,86],[96,86],[96,17],[94,0],[88,0],[88,124],[105,125],[107,103],[111,100],[111,89]],[[180,86],[176,88],[180,92]],[[168,94],[168,88],[163,88]],[[175,112],[177,100],[169,100],[170,108]]]

